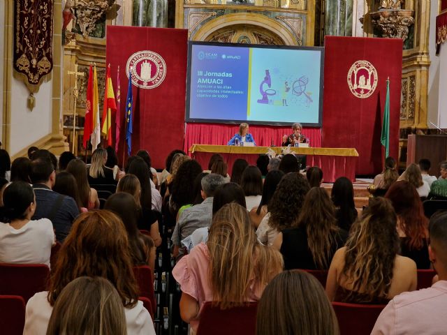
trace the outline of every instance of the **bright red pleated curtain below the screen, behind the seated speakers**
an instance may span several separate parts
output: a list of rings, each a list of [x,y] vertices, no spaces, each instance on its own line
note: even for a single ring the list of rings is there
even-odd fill
[[[187,152],[192,144],[226,145],[238,131],[238,124],[186,124],[184,151]],[[249,126],[249,133],[259,147],[279,147],[283,135],[291,134],[292,128],[252,125]],[[309,137],[311,147],[321,147],[321,128],[303,128],[302,133]]]

